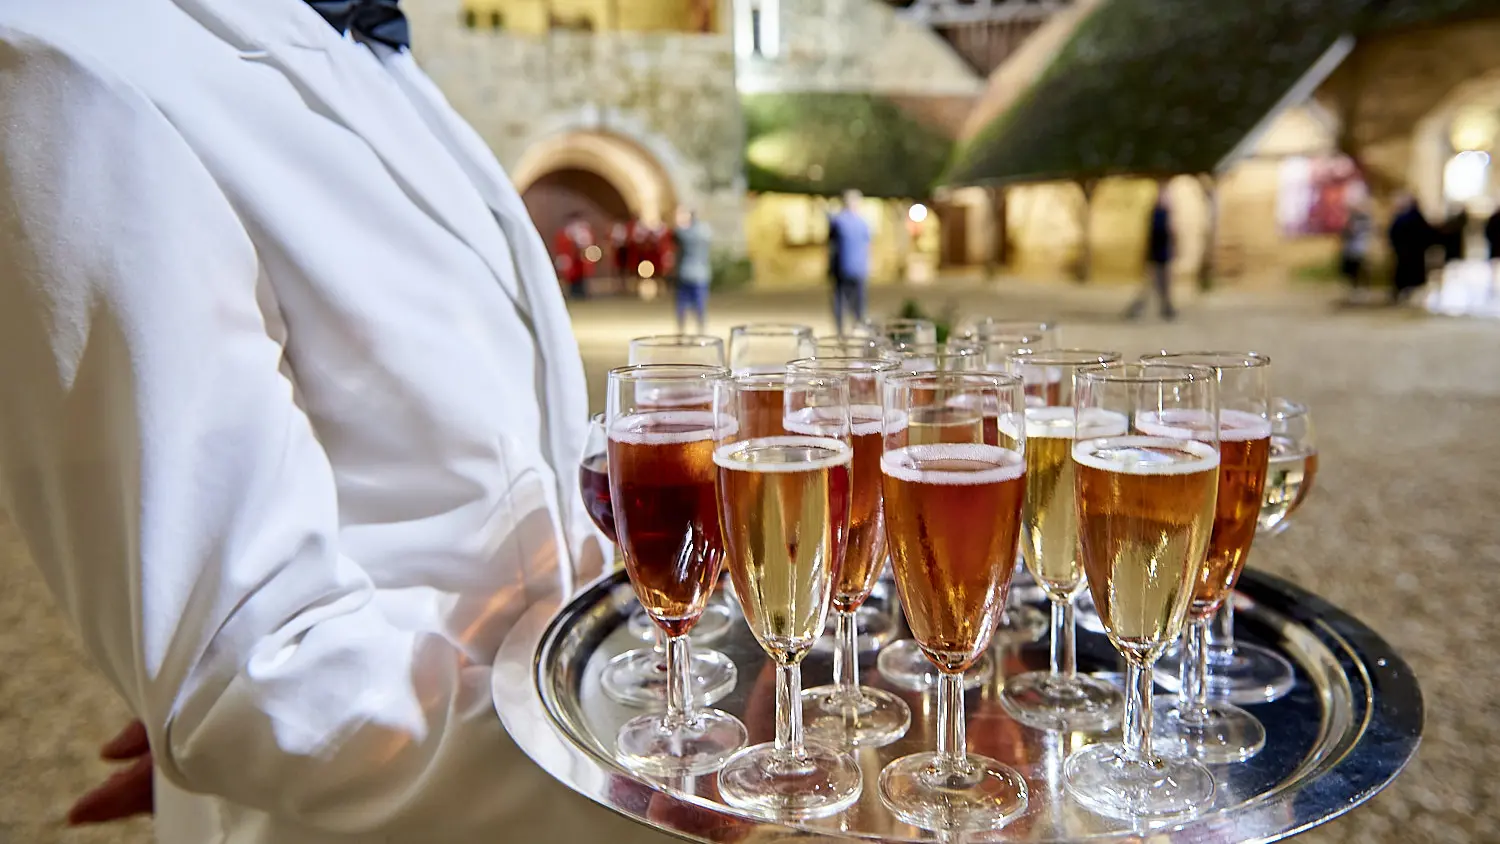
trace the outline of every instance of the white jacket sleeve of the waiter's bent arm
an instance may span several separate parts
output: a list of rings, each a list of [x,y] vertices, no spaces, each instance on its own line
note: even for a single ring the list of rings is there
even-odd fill
[[[486,823],[488,666],[340,553],[234,208],[123,82],[3,27],[0,67],[0,493],[158,766],[330,831]]]

